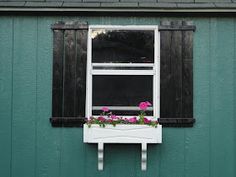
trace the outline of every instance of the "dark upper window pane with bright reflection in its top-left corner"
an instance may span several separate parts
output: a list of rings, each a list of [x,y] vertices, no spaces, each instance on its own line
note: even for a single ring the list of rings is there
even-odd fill
[[[154,31],[92,31],[93,63],[153,63]]]

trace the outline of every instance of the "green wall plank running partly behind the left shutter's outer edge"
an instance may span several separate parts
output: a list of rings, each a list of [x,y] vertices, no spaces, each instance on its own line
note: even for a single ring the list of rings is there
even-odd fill
[[[61,132],[61,129],[52,128],[48,121],[48,118],[51,116],[51,112],[52,112],[51,101],[52,101],[52,68],[53,68],[52,67],[53,66],[53,32],[50,29],[50,25],[54,23],[54,21],[58,21],[57,18],[58,17],[50,17],[50,18],[44,17],[44,16],[38,17],[38,29],[37,29],[38,30],[38,45],[37,45],[38,60],[37,60],[37,93],[36,93],[37,94],[36,177],[59,177],[60,176],[60,150],[61,150],[60,132]],[[63,33],[60,33],[58,31],[56,33],[57,33],[56,38],[58,42],[63,41]],[[63,47],[58,46],[58,48],[60,49]],[[62,58],[59,57],[59,59],[62,62]],[[62,74],[60,75],[61,75],[60,80],[62,80]],[[62,93],[62,88],[60,87],[58,88],[61,89],[61,93]],[[62,94],[61,94],[61,97],[62,97]],[[62,100],[60,102],[61,102],[60,104],[60,108],[61,108]],[[55,111],[55,115],[59,116],[61,114],[57,114],[57,112]]]

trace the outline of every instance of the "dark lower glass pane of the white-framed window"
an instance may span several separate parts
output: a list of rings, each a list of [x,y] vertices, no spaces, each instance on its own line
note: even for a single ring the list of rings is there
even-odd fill
[[[152,103],[153,76],[93,76],[93,106]]]

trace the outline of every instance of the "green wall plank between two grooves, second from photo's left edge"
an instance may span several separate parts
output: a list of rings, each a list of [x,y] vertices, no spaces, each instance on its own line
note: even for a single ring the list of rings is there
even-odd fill
[[[14,19],[12,177],[35,176],[37,21]]]

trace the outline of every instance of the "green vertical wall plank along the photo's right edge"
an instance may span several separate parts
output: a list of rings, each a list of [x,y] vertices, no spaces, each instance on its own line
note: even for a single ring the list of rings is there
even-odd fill
[[[234,23],[232,19],[212,18],[210,27],[211,177],[234,176]]]

